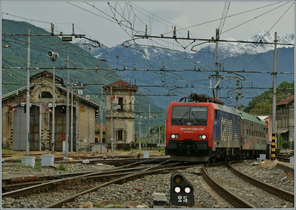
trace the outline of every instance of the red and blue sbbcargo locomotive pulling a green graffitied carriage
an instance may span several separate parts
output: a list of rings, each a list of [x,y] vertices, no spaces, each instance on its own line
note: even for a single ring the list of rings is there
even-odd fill
[[[176,161],[214,162],[268,153],[264,121],[215,98],[194,97],[197,102],[170,103],[165,155]]]

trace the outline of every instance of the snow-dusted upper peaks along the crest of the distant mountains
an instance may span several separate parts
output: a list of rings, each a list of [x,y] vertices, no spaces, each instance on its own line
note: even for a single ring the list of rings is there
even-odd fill
[[[263,30],[259,31],[257,34],[253,35],[251,38],[248,38],[247,40],[235,40],[233,38],[225,38],[224,40],[227,40],[230,42],[223,42],[223,41],[218,42],[219,60],[226,59],[233,56],[238,56],[241,54],[258,54],[258,53],[274,50],[274,44],[231,42],[231,41],[247,41],[247,42],[262,41],[263,43],[274,43],[274,35]],[[78,43],[89,43],[89,41],[82,39]],[[294,34],[286,34],[282,36],[277,35],[277,43],[294,44],[295,35]],[[280,45],[280,44],[277,45],[277,48],[282,48],[282,47],[288,48],[293,46]],[[198,52],[215,53],[215,49],[216,49],[216,44],[211,43],[208,46],[198,50]],[[128,41],[128,42],[125,42],[123,45],[119,44],[112,48],[108,48],[104,45],[101,45],[101,48],[93,48],[91,51],[91,54],[96,56],[96,58],[107,60],[108,57],[110,58],[110,56],[119,52],[125,52],[126,54],[129,54],[129,56],[132,56],[137,59],[150,60],[154,62],[158,60],[168,60],[168,58],[174,59],[174,60],[176,59],[178,60],[181,57],[184,57],[185,59],[193,59],[194,57],[196,57],[195,56],[196,54],[199,54],[198,52],[188,53],[188,52],[180,52],[176,50],[169,50],[169,49],[163,49],[163,48],[157,48],[157,47],[141,46],[141,45],[137,45],[135,41]],[[125,61],[128,62],[129,59],[125,59]]]

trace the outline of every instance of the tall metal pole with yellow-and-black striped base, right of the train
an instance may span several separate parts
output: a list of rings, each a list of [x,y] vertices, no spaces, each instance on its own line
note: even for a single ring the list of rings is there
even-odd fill
[[[274,33],[274,43],[277,42],[276,32]],[[272,136],[271,136],[271,160],[276,157],[276,44],[274,45],[274,83],[272,98]]]

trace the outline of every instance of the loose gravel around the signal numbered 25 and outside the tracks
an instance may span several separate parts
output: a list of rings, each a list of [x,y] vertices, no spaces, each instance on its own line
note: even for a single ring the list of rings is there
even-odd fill
[[[59,164],[55,164],[58,167]],[[94,171],[94,167],[84,164],[65,164],[68,172]],[[249,163],[235,165],[240,171],[255,177],[263,182],[275,185],[278,188],[295,192],[294,175],[287,174],[274,166],[258,167]],[[194,187],[194,208],[228,208],[223,203],[219,203],[210,192],[205,190],[201,179],[202,176],[192,173],[200,173],[201,167],[192,167],[179,171]],[[2,166],[2,172],[43,172],[45,175],[67,173],[42,167],[41,170],[33,168],[14,168]],[[112,184],[100,188],[76,199],[75,202],[68,203],[63,208],[153,208],[154,193],[164,193],[166,203],[170,199],[170,177],[174,172],[167,172],[161,175],[149,175],[141,179],[133,180],[122,185]],[[222,175],[222,174],[221,174]],[[140,188],[140,189],[134,189]],[[66,195],[65,195],[66,196]],[[1,208],[42,208],[46,205],[44,195],[38,198],[36,194],[34,201],[22,198],[2,198]],[[46,197],[46,196],[45,196]],[[166,206],[167,207],[167,206]],[[184,206],[173,206],[173,208],[185,208]],[[279,207],[281,208],[281,207]]]

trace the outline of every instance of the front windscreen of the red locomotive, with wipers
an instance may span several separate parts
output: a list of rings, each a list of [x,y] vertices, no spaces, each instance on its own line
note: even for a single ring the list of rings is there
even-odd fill
[[[173,106],[171,125],[206,126],[207,107]]]

